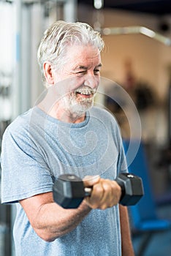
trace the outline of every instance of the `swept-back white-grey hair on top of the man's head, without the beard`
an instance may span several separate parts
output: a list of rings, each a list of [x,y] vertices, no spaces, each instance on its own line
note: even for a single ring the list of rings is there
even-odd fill
[[[63,20],[53,23],[45,31],[37,51],[37,60],[44,81],[44,62],[50,61],[57,69],[61,69],[68,45],[92,45],[101,51],[104,48],[104,41],[99,32],[94,31],[87,23],[66,23]]]

